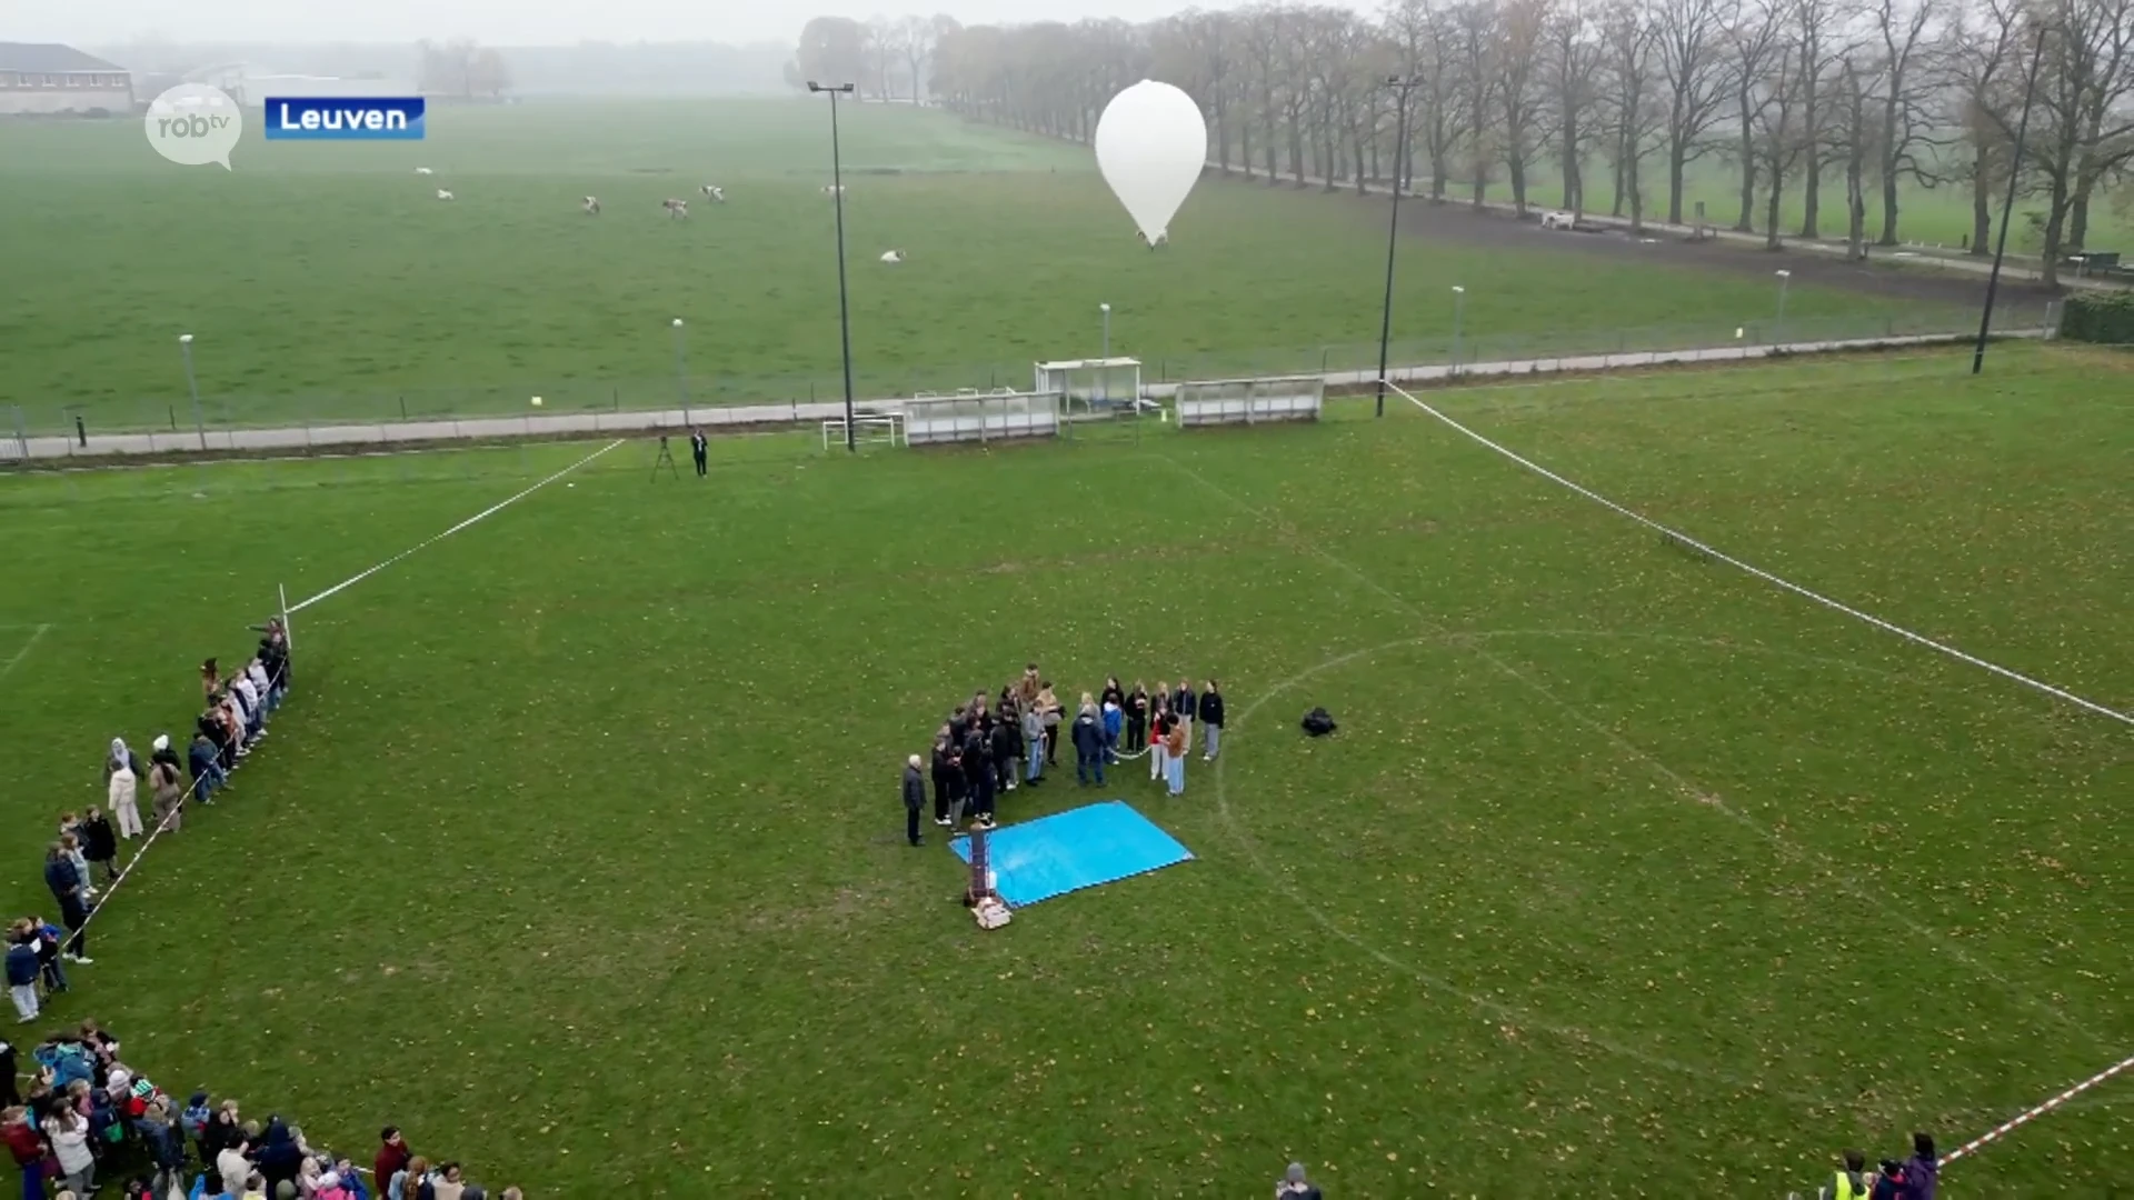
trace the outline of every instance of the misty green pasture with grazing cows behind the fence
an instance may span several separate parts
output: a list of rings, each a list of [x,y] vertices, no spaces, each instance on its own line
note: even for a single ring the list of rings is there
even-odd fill
[[[1112,348],[1150,378],[1376,363],[1376,203],[1204,184],[1150,254],[1086,149],[937,111],[843,109],[862,395],[1029,386]],[[666,406],[670,320],[696,404],[841,389],[828,120],[805,100],[440,109],[425,143],[241,145],[235,171],[154,158],[132,122],[0,124],[0,431],[190,425],[194,333],[213,425]],[[416,167],[435,175],[420,177]],[[881,171],[901,171],[886,175]],[[698,184],[723,207],[659,211]],[[455,203],[440,203],[450,188]],[[587,218],[578,199],[600,196]],[[909,260],[881,265],[883,250]],[[1654,346],[1773,316],[1769,273],[1404,241],[1400,354],[1464,335],[1504,357]],[[1880,333],[1916,305],[1795,286],[1788,322]]]

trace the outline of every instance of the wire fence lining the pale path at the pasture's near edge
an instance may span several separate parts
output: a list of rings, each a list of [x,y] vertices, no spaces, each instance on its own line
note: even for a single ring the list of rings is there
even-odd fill
[[[2051,305],[2002,305],[1995,329],[2034,333],[2055,318]],[[1396,314],[1398,316],[1398,314]],[[1564,361],[1600,354],[1673,352],[1697,348],[1754,348],[1778,342],[1833,342],[1976,331],[1976,314],[1916,310],[1848,318],[1786,318],[1739,325],[1705,320],[1633,329],[1551,329],[1500,333],[1447,329],[1389,346],[1396,369],[1449,367],[1479,361]],[[1187,380],[1248,376],[1329,376],[1353,384],[1376,378],[1376,342],[1306,348],[1253,348],[1142,359],[1142,386],[1165,395]],[[856,363],[854,389],[869,412],[883,412],[920,393],[958,389],[997,391],[1029,386],[1031,361],[962,363],[939,367],[866,367]],[[403,393],[294,393],[224,395],[211,391],[203,367],[203,395],[194,408],[184,378],[173,393],[149,399],[19,399],[0,401],[0,461],[21,459],[32,442],[47,440],[34,457],[87,451],[83,442],[128,436],[120,453],[228,451],[235,429],[271,429],[273,446],[307,453],[335,444],[423,440],[563,436],[640,429],[683,429],[689,423],[805,423],[843,412],[843,380],[834,354],[819,376],[689,376],[685,380],[572,380]],[[87,384],[85,384],[87,386]],[[542,397],[536,408],[531,397]],[[687,397],[687,404],[683,401]],[[1071,416],[1071,414],[1069,414]],[[66,438],[68,446],[60,446]],[[256,442],[256,440],[254,440]],[[111,453],[111,451],[107,451]]]

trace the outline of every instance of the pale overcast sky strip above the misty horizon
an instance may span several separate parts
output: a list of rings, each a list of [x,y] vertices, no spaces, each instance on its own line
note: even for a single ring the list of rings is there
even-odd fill
[[[954,0],[967,26],[992,21],[1125,17],[1148,21],[1184,0]],[[1204,4],[1225,6],[1225,4]],[[173,41],[288,43],[474,36],[504,45],[598,41],[792,43],[815,15],[901,15],[907,9],[826,0],[68,0],[6,4],[0,41],[109,45],[160,32]]]

